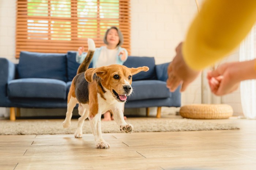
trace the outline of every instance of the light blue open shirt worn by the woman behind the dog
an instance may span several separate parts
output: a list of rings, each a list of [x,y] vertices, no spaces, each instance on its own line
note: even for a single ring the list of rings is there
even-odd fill
[[[99,48],[96,48],[95,51],[94,51],[94,55],[93,55],[93,68],[95,68],[95,64],[97,63],[98,59],[99,59],[99,54],[101,54],[101,50],[102,50],[102,47],[99,47]],[[126,56],[128,57],[128,52],[125,48],[122,48],[122,47],[118,47],[118,52],[117,52],[117,55],[116,55],[116,61],[117,63],[113,63],[113,64],[120,64],[120,65],[123,65],[124,62],[127,60],[127,58],[125,60],[121,60],[121,55],[118,55],[121,51],[125,51],[125,54]],[[86,57],[86,52],[83,52],[83,54],[79,55],[78,52],[76,52],[76,62],[81,64],[84,60],[84,58]]]

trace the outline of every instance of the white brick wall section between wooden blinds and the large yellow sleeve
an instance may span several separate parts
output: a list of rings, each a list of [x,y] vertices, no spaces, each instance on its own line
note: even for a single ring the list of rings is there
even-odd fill
[[[200,2],[200,1],[199,1]],[[131,0],[131,55],[172,61],[197,13],[194,0]],[[182,93],[182,105],[201,103],[201,78]]]

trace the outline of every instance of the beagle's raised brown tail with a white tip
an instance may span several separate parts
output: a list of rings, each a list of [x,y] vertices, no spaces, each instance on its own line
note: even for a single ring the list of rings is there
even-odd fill
[[[84,58],[83,62],[78,67],[76,74],[86,71],[91,63],[91,60],[93,59],[93,54],[95,51],[95,43],[94,43],[93,39],[90,39],[90,38],[88,39],[87,43],[88,43],[87,55]]]

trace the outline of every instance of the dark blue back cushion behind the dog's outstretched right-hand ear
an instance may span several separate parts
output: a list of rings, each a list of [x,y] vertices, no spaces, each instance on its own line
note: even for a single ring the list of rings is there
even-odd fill
[[[132,80],[155,80],[155,59],[154,57],[135,57],[128,56],[127,60],[124,62],[124,66],[129,68],[137,68],[147,66],[149,70],[147,72],[139,72],[132,76]]]

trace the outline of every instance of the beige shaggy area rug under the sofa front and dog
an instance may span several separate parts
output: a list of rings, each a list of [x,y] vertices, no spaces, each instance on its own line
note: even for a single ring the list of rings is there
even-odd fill
[[[63,120],[0,120],[0,135],[45,135],[45,134],[74,134],[77,120],[71,120],[71,126],[62,127]],[[134,132],[167,132],[167,131],[200,131],[200,130],[232,130],[239,129],[233,124],[219,124],[192,119],[172,118],[128,118]],[[116,122],[101,122],[102,133],[119,133]],[[83,133],[92,133],[87,119],[83,125]]]

